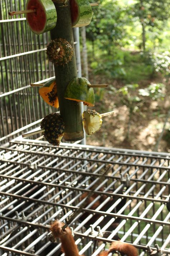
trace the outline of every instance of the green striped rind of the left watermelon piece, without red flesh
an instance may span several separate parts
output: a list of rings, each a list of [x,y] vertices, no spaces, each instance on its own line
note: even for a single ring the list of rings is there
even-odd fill
[[[28,0],[26,5],[25,5],[25,10],[29,9],[28,8],[29,1],[30,0]],[[56,12],[56,8],[55,8],[55,5],[54,5],[52,0],[36,0],[36,1],[39,4],[42,5],[44,13],[46,14],[46,23],[44,25],[44,28],[41,31],[34,30],[28,22],[28,17],[29,17],[28,15],[30,15],[29,13],[26,14],[26,20],[27,20],[27,23],[30,27],[30,30],[34,34],[40,35],[44,32],[47,32],[47,31],[52,30],[53,28],[55,28],[56,22],[57,22],[57,12]]]

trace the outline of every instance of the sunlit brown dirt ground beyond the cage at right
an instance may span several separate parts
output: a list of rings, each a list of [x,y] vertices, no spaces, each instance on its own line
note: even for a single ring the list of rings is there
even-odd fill
[[[90,78],[92,80],[93,76],[90,75],[89,79]],[[98,84],[103,83],[105,79],[106,78],[98,76]],[[109,85],[113,85],[117,88],[123,86],[119,81],[114,80],[107,82]],[[165,83],[165,79],[159,76],[150,81],[141,81],[139,84],[142,87],[146,87],[148,84],[158,82]],[[167,113],[170,109],[170,81],[166,81],[166,96],[164,100],[147,99],[140,106],[140,111],[133,113],[128,138],[129,109],[126,105],[121,105],[120,101],[120,96],[110,93],[109,87],[104,89],[103,98],[95,103],[95,107],[90,107],[89,109],[95,109],[99,113],[114,110],[115,113],[112,116],[103,117],[101,129],[91,136],[87,135],[86,144],[170,153],[170,137],[166,140],[161,139],[158,149],[155,149]],[[167,125],[170,126],[170,120]]]

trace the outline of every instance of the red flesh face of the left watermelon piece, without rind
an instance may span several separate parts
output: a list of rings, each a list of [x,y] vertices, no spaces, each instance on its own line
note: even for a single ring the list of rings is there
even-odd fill
[[[46,26],[46,13],[43,5],[37,0],[30,0],[27,9],[36,9],[35,13],[27,14],[27,21],[33,31],[41,32]]]

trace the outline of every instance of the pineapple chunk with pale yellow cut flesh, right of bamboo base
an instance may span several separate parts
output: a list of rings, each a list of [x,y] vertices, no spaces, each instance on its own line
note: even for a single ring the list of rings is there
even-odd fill
[[[100,130],[102,118],[95,110],[88,109],[82,113],[82,123],[86,134],[91,135]]]

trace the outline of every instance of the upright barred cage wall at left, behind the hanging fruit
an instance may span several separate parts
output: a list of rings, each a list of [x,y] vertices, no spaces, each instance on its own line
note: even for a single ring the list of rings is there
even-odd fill
[[[0,137],[44,117],[50,109],[30,83],[54,76],[47,61],[49,33],[35,35],[23,14],[25,1],[0,1]]]

